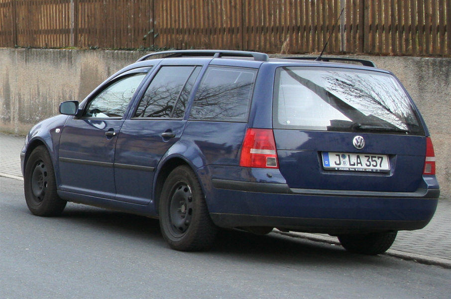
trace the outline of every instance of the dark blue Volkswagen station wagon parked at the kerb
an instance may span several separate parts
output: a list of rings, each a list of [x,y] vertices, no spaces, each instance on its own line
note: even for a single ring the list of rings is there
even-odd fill
[[[72,201],[159,218],[176,250],[208,249],[219,227],[277,228],[379,254],[438,203],[424,120],[370,61],[156,52],[60,112],[21,152],[31,212]]]

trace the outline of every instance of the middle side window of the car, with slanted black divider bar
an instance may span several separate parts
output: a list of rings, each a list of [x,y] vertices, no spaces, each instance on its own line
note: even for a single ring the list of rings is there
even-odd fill
[[[201,67],[163,66],[139,102],[134,117],[183,118]]]

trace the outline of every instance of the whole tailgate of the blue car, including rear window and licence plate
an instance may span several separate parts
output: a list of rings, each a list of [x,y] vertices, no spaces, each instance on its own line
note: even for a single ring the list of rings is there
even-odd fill
[[[414,192],[422,181],[425,131],[390,74],[279,68],[273,126],[291,188]]]

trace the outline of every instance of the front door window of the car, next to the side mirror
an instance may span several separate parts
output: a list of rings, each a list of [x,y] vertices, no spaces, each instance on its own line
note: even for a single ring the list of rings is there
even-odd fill
[[[122,117],[145,75],[137,73],[113,82],[88,103],[83,117]]]

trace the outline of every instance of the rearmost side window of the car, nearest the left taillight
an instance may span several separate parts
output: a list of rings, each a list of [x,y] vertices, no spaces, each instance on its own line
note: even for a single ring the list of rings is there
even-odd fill
[[[256,70],[209,67],[191,108],[190,119],[246,121]]]

